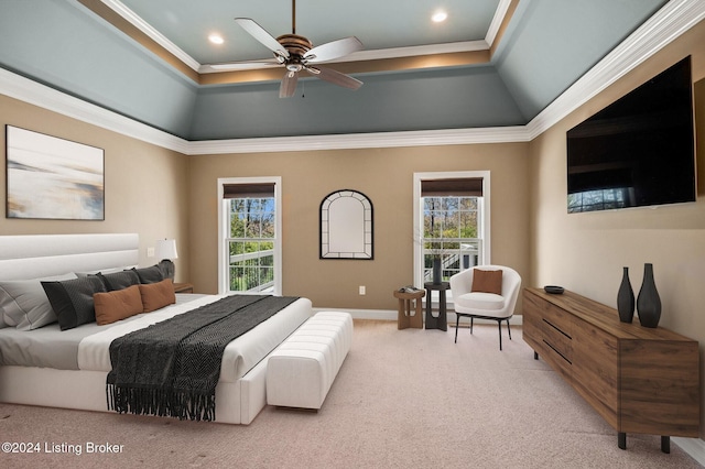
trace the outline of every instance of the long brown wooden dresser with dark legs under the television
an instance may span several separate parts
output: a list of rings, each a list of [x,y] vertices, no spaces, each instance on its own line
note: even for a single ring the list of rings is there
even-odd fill
[[[698,342],[668,329],[646,328],[634,315],[619,321],[615,308],[572,292],[523,292],[523,338],[618,432],[698,437]]]

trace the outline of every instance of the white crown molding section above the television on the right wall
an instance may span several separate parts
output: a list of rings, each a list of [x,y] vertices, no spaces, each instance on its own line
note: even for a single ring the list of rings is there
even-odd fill
[[[671,0],[533,118],[533,140],[705,18],[705,1]]]

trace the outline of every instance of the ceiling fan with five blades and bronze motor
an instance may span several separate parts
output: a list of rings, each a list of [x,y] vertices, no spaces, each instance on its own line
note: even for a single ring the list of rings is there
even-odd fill
[[[262,26],[257,24],[254,20],[249,18],[236,18],[238,23],[245,31],[250,33],[252,37],[264,44],[267,48],[274,53],[275,63],[257,62],[264,65],[283,65],[286,73],[282,78],[279,88],[280,98],[289,98],[296,91],[296,83],[301,70],[307,72],[314,77],[329,81],[334,85],[344,86],[350,89],[358,89],[362,86],[362,81],[351,76],[341,74],[330,68],[318,67],[314,64],[321,62],[333,61],[344,57],[362,48],[362,43],[355,36],[344,37],[332,41],[326,44],[314,47],[308,39],[296,34],[296,0],[292,0],[292,33],[282,34],[279,37],[272,36]],[[235,68],[235,66],[213,65],[214,68]]]

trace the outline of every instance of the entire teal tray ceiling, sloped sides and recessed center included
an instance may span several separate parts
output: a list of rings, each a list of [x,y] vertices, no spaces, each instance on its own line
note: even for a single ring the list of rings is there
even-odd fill
[[[525,124],[666,1],[519,0],[514,8],[509,0],[299,0],[296,33],[314,45],[348,35],[362,42],[359,57],[330,66],[352,67],[346,73],[365,84],[351,91],[305,78],[288,99],[279,98],[278,78],[205,84],[193,75],[213,78],[209,64],[271,57],[232,19],[252,18],[274,36],[290,33],[290,1],[102,3],[192,70],[78,0],[0,0],[0,67],[200,141]],[[440,8],[448,19],[434,24]],[[208,43],[213,32],[224,36],[221,46]],[[410,54],[490,46],[480,63],[387,66]],[[366,59],[378,66],[355,72],[351,61]]]

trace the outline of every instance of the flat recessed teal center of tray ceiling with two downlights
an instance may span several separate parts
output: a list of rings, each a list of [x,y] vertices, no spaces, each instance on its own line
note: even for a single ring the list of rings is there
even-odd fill
[[[251,18],[273,36],[292,32],[291,0],[121,0],[200,64],[268,58],[271,55],[232,21]],[[296,33],[314,45],[357,36],[366,50],[485,40],[500,0],[321,1],[297,0]],[[437,10],[449,18],[430,21]],[[214,46],[208,34],[225,43]]]

